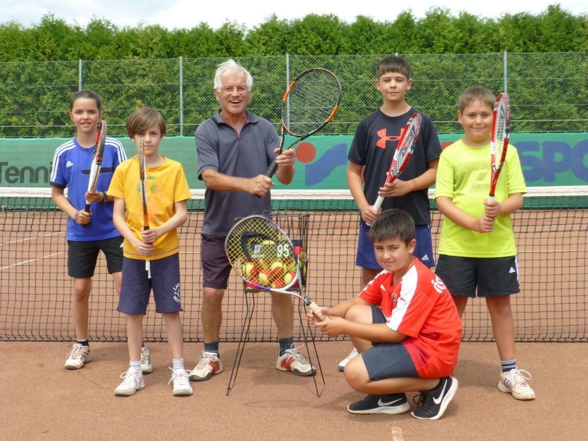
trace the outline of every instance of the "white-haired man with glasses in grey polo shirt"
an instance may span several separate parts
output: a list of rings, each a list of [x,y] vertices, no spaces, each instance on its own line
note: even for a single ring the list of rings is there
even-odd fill
[[[232,59],[220,64],[215,75],[215,96],[220,110],[195,133],[198,178],[206,185],[206,206],[201,245],[204,350],[192,370],[193,381],[208,380],[222,371],[221,303],[230,273],[225,237],[235,218],[271,208],[269,189],[273,182],[265,173],[278,153],[278,135],[269,121],[247,110],[252,84],[249,72]],[[276,158],[276,178],[284,184],[290,183],[294,176],[294,158],[292,149]],[[290,296],[272,293],[272,316],[280,343],[276,368],[295,375],[314,375],[315,369],[294,345],[293,315]]]

